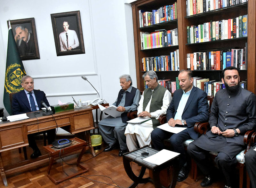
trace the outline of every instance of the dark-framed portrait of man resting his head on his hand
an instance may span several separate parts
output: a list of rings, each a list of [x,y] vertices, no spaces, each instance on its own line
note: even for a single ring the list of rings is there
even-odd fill
[[[40,59],[35,18],[11,20],[10,23],[21,60]]]

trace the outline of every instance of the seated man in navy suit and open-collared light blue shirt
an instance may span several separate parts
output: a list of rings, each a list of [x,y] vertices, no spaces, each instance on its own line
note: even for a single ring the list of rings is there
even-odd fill
[[[164,139],[170,138],[173,151],[180,153],[180,172],[177,181],[183,181],[188,177],[186,153],[183,142],[188,139],[196,139],[199,134],[194,131],[194,125],[198,121],[207,121],[209,105],[206,93],[193,86],[193,74],[190,70],[181,70],[178,76],[181,89],[173,93],[172,102],[166,111],[166,119],[169,126],[187,127],[180,133],[154,129],[151,133],[152,143],[158,150],[164,149]]]

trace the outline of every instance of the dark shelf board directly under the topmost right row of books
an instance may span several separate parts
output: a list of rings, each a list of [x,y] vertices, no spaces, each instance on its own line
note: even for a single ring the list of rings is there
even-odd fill
[[[228,12],[234,12],[236,10],[239,10],[241,8],[247,8],[247,4],[248,2],[245,3],[241,3],[241,4],[236,4],[236,5],[232,5],[232,6],[228,6],[228,7],[224,7],[224,8],[220,8],[220,9],[215,9],[212,11],[208,11],[208,12],[203,12],[203,13],[199,13],[199,14],[194,14],[191,16],[185,16],[185,18],[187,19],[198,19],[200,17],[205,17],[205,16],[209,16],[212,14],[227,14]]]

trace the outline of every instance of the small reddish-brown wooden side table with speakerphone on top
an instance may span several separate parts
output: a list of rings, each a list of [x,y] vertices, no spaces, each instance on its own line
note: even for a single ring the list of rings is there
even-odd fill
[[[89,171],[88,168],[85,168],[81,164],[79,164],[80,161],[81,161],[81,158],[84,154],[84,151],[86,150],[87,142],[82,140],[82,139],[76,138],[76,137],[72,138],[70,140],[72,141],[71,145],[69,145],[67,147],[64,147],[64,148],[61,148],[61,149],[60,148],[55,148],[52,145],[44,146],[44,149],[50,155],[50,162],[49,162],[49,166],[47,168],[47,177],[49,177],[49,179],[55,185]],[[82,151],[81,151],[81,153],[80,153],[80,155],[79,155],[79,157],[76,161],[76,166],[81,168],[82,170],[78,171],[77,173],[75,173],[73,175],[69,175],[68,177],[61,178],[59,180],[56,180],[53,176],[50,175],[50,171],[51,171],[51,168],[52,168],[52,163],[54,161],[54,158],[59,157],[60,152],[61,152],[61,154],[68,154],[68,153],[72,153],[72,152],[80,150],[80,149],[82,149]]]

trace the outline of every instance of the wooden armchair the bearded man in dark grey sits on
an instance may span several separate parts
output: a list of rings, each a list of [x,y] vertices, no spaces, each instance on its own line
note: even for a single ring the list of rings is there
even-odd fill
[[[209,122],[199,123],[199,124],[197,124],[197,127],[195,127],[195,131],[200,134],[205,134],[209,128],[210,128]],[[243,188],[244,173],[245,173],[244,154],[251,147],[251,139],[254,139],[254,137],[252,137],[253,134],[255,135],[254,137],[256,137],[255,130],[249,130],[245,133],[244,144],[246,144],[247,147],[245,150],[243,150],[242,152],[240,152],[239,154],[236,155],[236,160],[237,160],[236,168],[238,168],[238,170],[239,170],[239,188]],[[212,159],[214,159],[218,154],[217,152],[209,152],[209,153],[210,153],[210,157]],[[196,165],[196,163],[194,163],[194,181],[197,180],[196,178],[197,178],[197,165]],[[246,178],[246,179],[247,179],[246,181],[248,184],[248,178]],[[249,180],[249,186],[250,186],[250,180]]]

